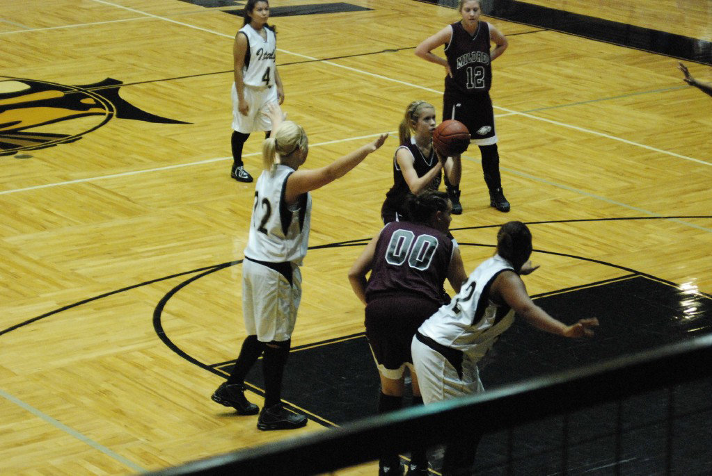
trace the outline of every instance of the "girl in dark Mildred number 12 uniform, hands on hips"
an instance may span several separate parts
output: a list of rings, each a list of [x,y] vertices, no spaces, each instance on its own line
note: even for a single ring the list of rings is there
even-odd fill
[[[480,0],[460,0],[461,20],[424,40],[415,49],[415,54],[445,67],[443,119],[456,119],[467,126],[472,144],[480,148],[490,205],[508,212],[510,205],[502,190],[494,112],[489,95],[491,62],[504,53],[508,41],[497,28],[480,20],[481,10]],[[496,47],[490,51],[491,43]],[[441,45],[445,46],[445,59],[431,53]],[[450,183],[448,190],[451,198],[459,197],[456,184]]]

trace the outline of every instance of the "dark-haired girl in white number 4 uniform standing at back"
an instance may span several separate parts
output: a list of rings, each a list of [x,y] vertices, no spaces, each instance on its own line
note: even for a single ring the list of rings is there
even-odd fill
[[[232,169],[230,176],[239,182],[251,182],[244,168],[242,148],[253,131],[271,129],[267,105],[282,104],[284,91],[276,64],[276,28],[269,26],[269,2],[248,0],[244,25],[233,43],[234,83],[232,85]]]

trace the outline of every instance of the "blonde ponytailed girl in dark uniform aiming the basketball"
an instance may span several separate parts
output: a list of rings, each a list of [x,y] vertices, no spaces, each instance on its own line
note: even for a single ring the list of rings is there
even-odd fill
[[[398,127],[400,145],[393,158],[393,186],[381,207],[384,224],[407,220],[407,195],[417,195],[426,188],[437,190],[443,168],[449,183],[460,183],[460,157],[442,158],[436,153],[433,147],[435,126],[432,104],[425,101],[408,104]],[[462,212],[462,207],[458,207],[459,202],[453,201],[452,212],[456,215]]]

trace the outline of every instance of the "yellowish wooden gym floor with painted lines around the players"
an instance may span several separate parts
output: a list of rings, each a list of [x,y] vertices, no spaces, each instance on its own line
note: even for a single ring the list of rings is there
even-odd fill
[[[459,17],[433,3],[271,1],[283,107],[308,131],[306,167],[395,131],[414,99],[441,113],[443,71],[413,50]],[[127,475],[324,431],[315,413],[303,430],[263,433],[209,399],[244,337],[236,261],[253,185],[229,178],[243,4],[0,4],[0,473]],[[468,151],[452,224],[472,245],[466,268],[491,254],[497,225],[521,220],[542,265],[525,280],[531,294],[647,276],[678,293],[681,338],[709,332],[699,309],[712,294],[712,97],[681,80],[674,57],[712,80],[712,1],[499,5],[485,19],[510,42],[491,95],[512,211],[488,207]],[[575,16],[518,17],[533,5]],[[648,47],[627,46],[639,35]],[[259,139],[246,144],[253,175]],[[362,332],[346,278],[360,247],[334,245],[378,232],[396,146],[392,134],[313,194],[310,245],[323,248],[303,267],[295,347]],[[258,389],[249,396],[261,404]]]

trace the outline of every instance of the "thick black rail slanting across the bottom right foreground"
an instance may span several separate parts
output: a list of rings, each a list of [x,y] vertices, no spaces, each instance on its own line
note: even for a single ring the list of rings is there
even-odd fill
[[[705,335],[568,372],[501,386],[476,396],[373,416],[340,428],[236,450],[147,474],[313,475],[332,472],[377,460],[385,448],[404,452],[418,443],[436,445],[453,436],[466,438],[468,429],[474,425],[491,433],[711,376],[712,335]],[[668,426],[666,448],[670,452],[673,412],[665,418]],[[671,472],[669,456],[668,474]]]

